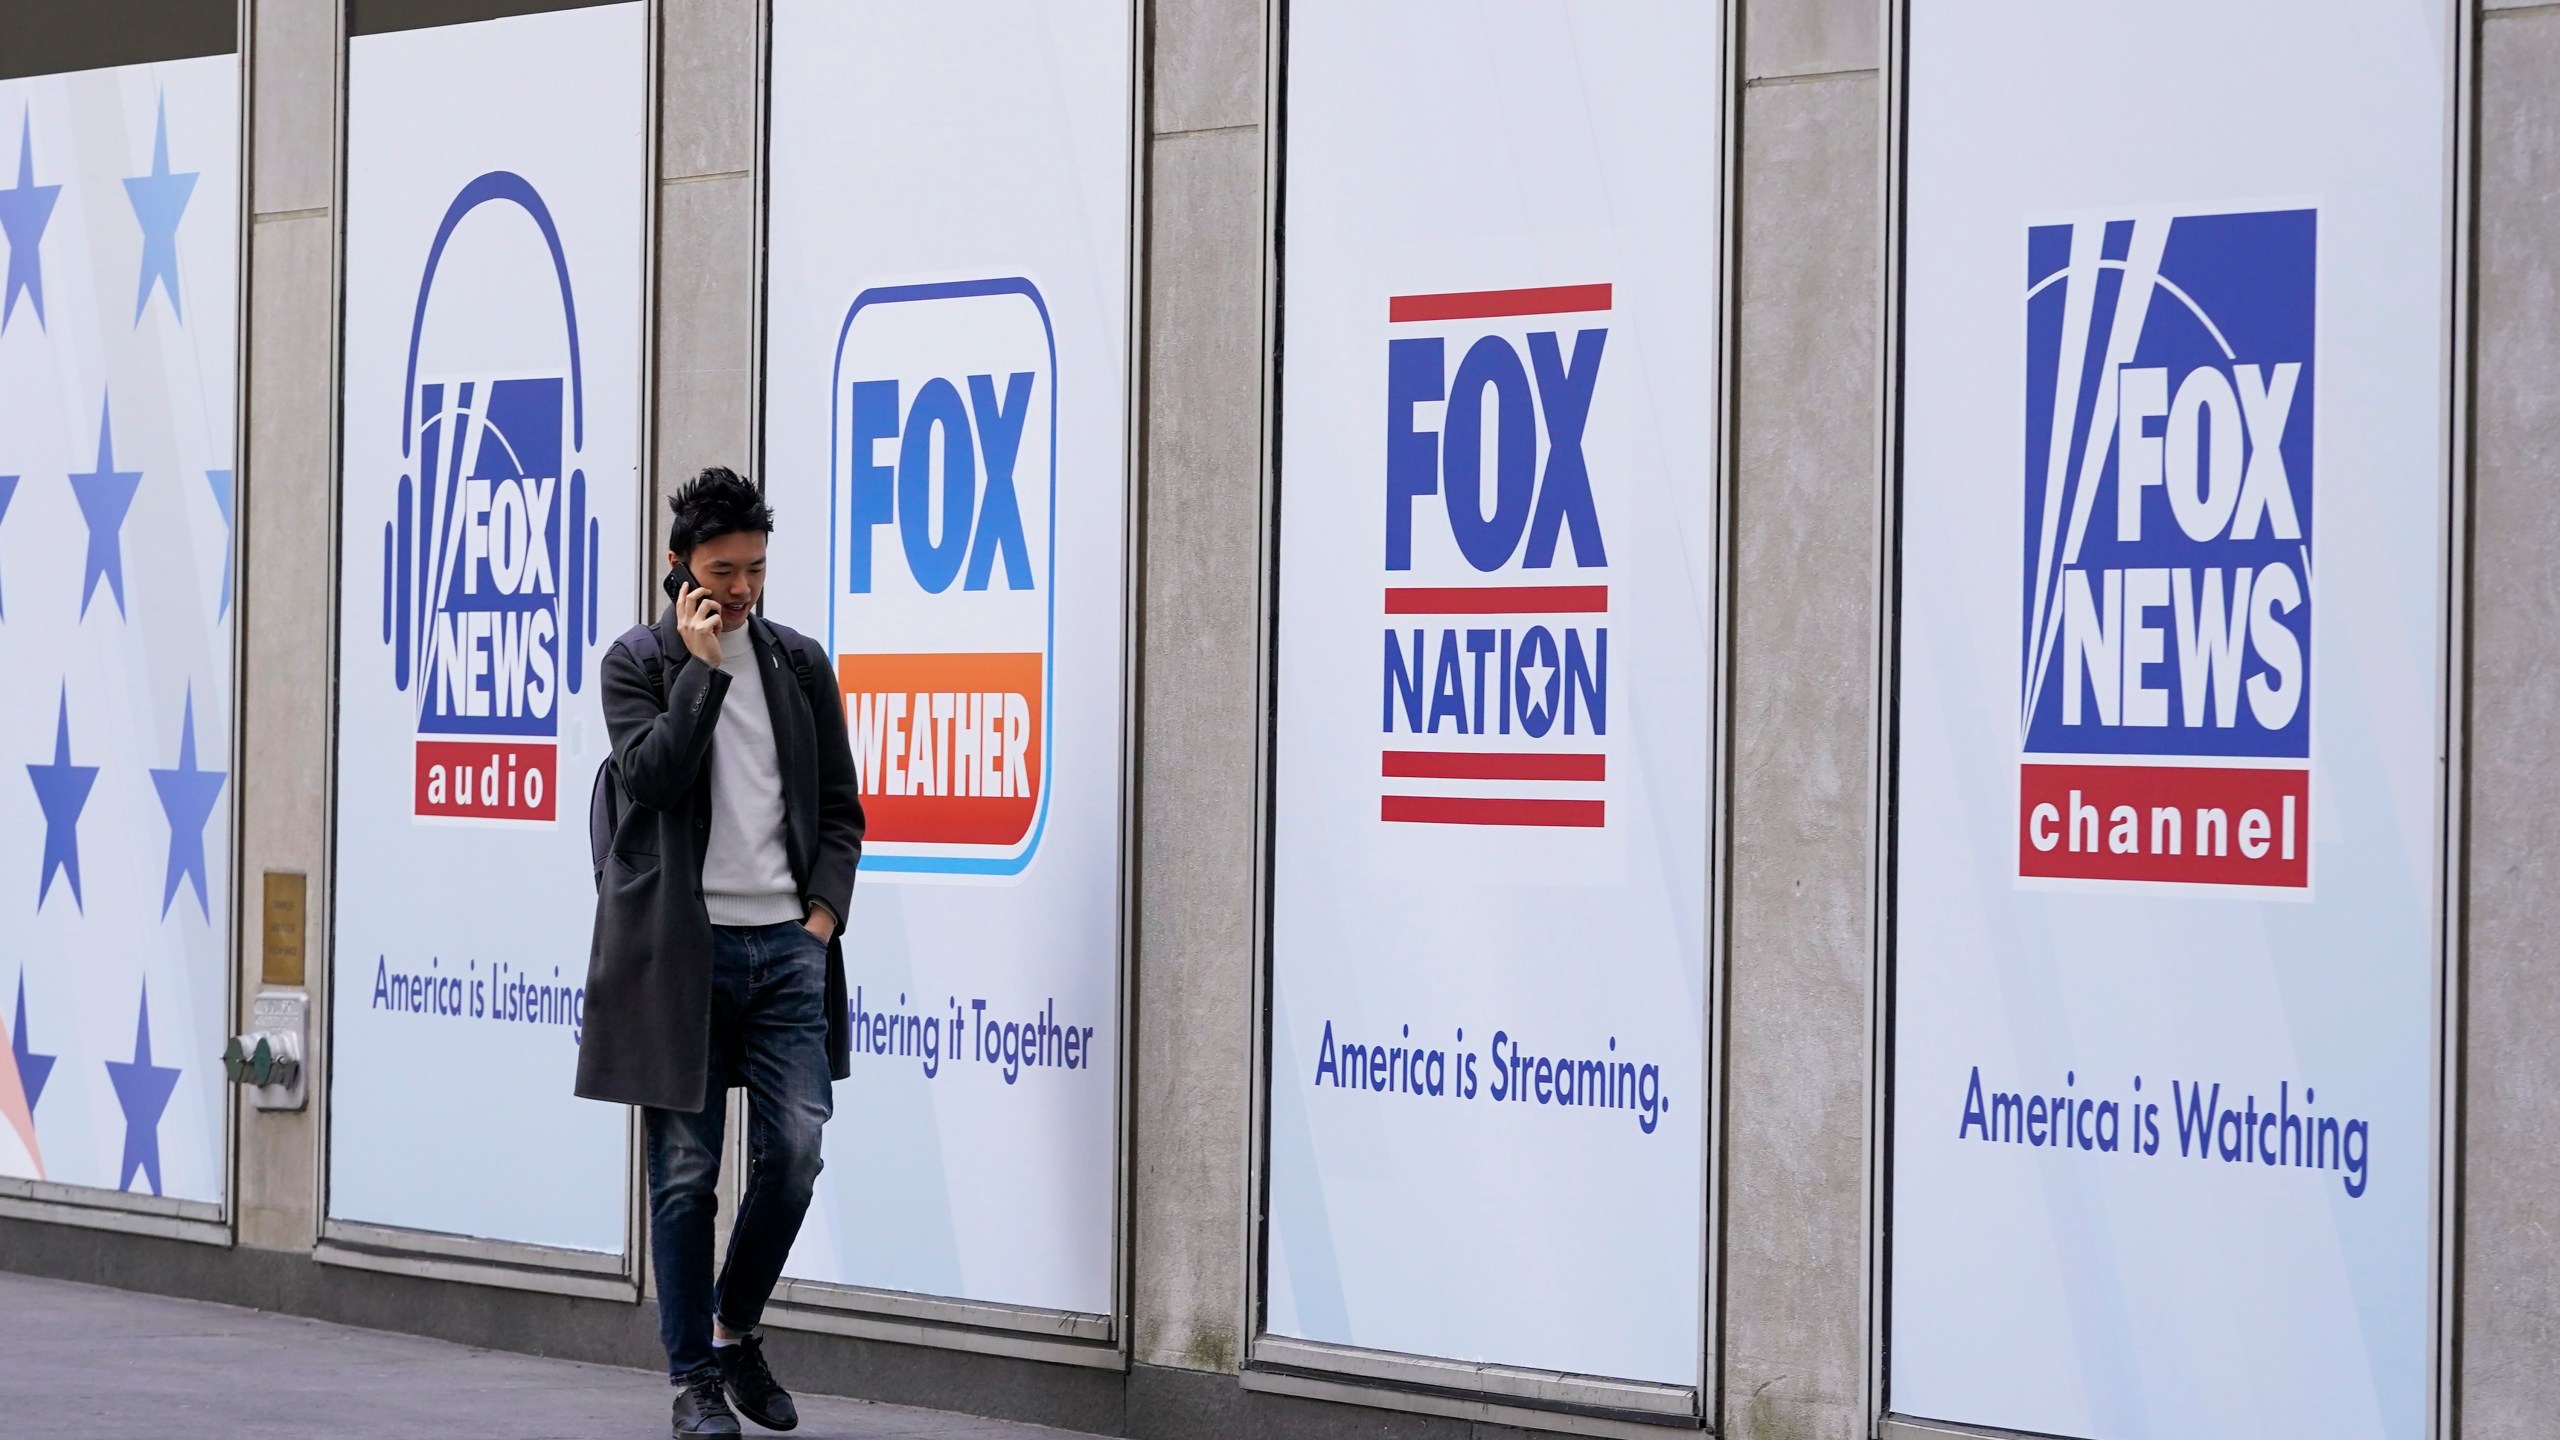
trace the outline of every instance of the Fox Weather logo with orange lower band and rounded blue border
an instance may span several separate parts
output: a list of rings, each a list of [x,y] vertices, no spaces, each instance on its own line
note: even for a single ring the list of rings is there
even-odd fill
[[[1016,876],[1050,805],[1050,307],[1021,277],[865,290],[832,395],[829,651],[863,869]]]

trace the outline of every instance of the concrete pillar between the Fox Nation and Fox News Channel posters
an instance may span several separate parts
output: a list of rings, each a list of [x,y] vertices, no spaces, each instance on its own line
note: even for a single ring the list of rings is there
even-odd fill
[[[1882,15],[1748,0],[1723,1432],[1866,1435]]]

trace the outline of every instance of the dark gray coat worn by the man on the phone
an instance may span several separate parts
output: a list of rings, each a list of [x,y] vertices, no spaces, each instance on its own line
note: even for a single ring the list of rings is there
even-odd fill
[[[625,807],[596,887],[579,1094],[701,1109],[712,1048],[712,920],[701,907],[701,851],[712,833],[712,733],[730,674],[684,648],[673,605],[653,630],[655,666],[643,666],[622,641],[604,651],[604,725]],[[748,620],[748,633],[773,707],[791,874],[804,904],[824,904],[837,917],[837,938],[827,945],[827,1066],[845,1079],[852,1061],[842,917],[863,861],[863,794],[845,743],[845,702],[822,646],[760,618]],[[806,687],[791,651],[809,666]],[[666,679],[663,705],[650,669]]]

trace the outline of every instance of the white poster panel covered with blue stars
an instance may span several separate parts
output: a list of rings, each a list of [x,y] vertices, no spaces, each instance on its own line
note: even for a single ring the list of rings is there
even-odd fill
[[[238,77],[0,79],[0,1176],[200,1204],[230,1104]]]

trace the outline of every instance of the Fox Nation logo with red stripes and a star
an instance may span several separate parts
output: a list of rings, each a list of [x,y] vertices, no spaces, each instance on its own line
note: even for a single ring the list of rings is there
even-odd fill
[[[1377,817],[1608,825],[1608,284],[1388,300]]]

